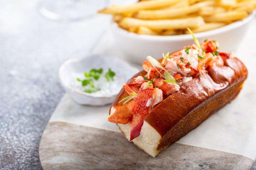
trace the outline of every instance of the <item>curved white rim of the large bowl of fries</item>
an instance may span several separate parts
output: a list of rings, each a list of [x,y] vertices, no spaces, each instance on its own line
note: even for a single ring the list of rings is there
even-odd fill
[[[220,32],[224,33],[224,32],[228,32],[232,29],[235,29],[237,27],[240,27],[246,23],[248,23],[249,21],[251,21],[256,15],[256,10],[254,10],[247,18],[241,20],[241,21],[235,21],[234,23],[228,24],[226,26],[222,26],[220,28],[214,29],[214,30],[209,30],[209,31],[204,31],[204,32],[198,32],[198,33],[194,33],[194,35],[196,36],[196,38],[202,38],[202,37],[206,37],[207,35],[211,35],[214,36],[216,34],[219,34]],[[131,38],[140,38],[140,39],[147,39],[147,40],[154,40],[154,41],[170,41],[170,40],[187,40],[187,39],[191,39],[192,36],[191,34],[183,34],[183,35],[173,35],[173,36],[154,36],[154,35],[144,35],[144,34],[136,34],[133,32],[128,32],[127,30],[124,30],[122,28],[120,28],[118,26],[117,23],[113,22],[114,27],[117,28],[118,31],[120,31],[120,33],[122,34],[130,34],[129,36]]]

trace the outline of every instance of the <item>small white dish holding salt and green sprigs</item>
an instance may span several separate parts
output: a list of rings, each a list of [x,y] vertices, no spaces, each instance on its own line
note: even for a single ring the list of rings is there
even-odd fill
[[[109,68],[116,73],[116,81],[118,85],[116,88],[108,94],[102,93],[84,93],[76,86],[75,83],[81,83],[77,81],[77,77],[84,77],[84,73],[91,69],[103,68],[106,72]],[[131,78],[135,73],[138,73],[138,69],[130,66],[123,60],[103,55],[88,56],[85,58],[69,59],[64,62],[59,68],[59,80],[65,90],[70,94],[72,99],[81,105],[100,106],[112,103],[116,95],[120,92],[122,85]],[[118,79],[117,79],[118,78]],[[79,84],[80,85],[80,84]],[[82,87],[82,86],[81,86]]]

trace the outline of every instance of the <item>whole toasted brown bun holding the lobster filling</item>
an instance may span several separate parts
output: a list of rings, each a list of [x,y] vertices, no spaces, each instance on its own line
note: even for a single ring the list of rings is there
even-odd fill
[[[145,74],[141,71],[134,77]],[[247,69],[239,59],[228,58],[224,66],[213,67],[208,73],[193,78],[146,116],[140,135],[132,142],[152,157],[157,156],[234,99],[247,75]],[[112,106],[119,105],[118,101],[125,96],[127,93],[121,90]],[[129,140],[129,123],[117,125]]]

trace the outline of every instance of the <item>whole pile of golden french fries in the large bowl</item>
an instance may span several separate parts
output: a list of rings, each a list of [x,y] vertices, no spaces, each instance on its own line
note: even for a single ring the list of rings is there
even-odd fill
[[[256,9],[256,0],[140,0],[132,5],[112,5],[98,13],[112,14],[130,32],[178,35],[213,30],[243,20]]]

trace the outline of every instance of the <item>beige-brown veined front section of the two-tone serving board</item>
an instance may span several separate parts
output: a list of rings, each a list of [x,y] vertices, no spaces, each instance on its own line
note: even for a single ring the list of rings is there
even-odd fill
[[[249,170],[254,160],[233,153],[174,143],[153,158],[122,133],[49,122],[39,147],[43,169]]]

